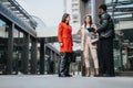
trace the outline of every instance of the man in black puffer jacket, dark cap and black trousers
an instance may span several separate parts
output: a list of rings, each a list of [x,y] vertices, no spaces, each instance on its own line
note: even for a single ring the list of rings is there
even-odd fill
[[[96,32],[100,35],[98,43],[98,57],[100,65],[100,76],[114,77],[114,59],[113,59],[113,38],[114,24],[106,12],[106,6],[99,7],[100,23]]]

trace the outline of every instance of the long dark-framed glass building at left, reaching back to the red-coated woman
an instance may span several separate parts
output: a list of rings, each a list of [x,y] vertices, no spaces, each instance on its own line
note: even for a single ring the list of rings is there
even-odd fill
[[[57,38],[38,35],[37,25],[16,0],[0,0],[0,74],[57,73],[59,52],[48,44]]]

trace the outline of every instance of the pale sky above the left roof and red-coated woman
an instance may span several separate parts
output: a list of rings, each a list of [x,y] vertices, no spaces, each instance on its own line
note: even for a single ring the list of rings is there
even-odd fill
[[[16,0],[31,15],[40,18],[47,26],[57,26],[63,14],[63,0]],[[70,1],[66,0],[68,11],[70,11]]]

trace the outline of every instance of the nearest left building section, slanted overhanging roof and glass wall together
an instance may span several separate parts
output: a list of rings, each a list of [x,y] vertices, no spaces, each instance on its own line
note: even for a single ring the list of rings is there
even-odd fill
[[[18,2],[0,0],[1,74],[18,74],[18,70],[28,74],[29,66],[32,74],[37,73],[35,26],[35,21]]]

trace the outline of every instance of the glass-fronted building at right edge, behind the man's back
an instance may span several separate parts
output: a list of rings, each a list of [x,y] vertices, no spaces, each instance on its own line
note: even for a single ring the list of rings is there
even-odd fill
[[[133,72],[133,1],[105,0],[114,19],[114,62],[116,72]]]

